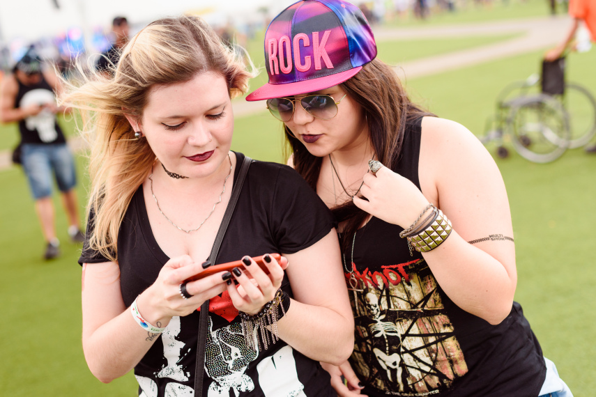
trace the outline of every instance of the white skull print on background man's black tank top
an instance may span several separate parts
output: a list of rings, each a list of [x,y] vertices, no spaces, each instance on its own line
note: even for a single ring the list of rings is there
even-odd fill
[[[31,90],[25,95],[19,104],[19,107],[28,107],[31,104],[53,104],[55,102],[54,93],[45,88]],[[49,109],[43,109],[36,116],[25,118],[25,125],[29,130],[36,130],[42,142],[50,143],[58,138],[56,131],[55,116]]]

